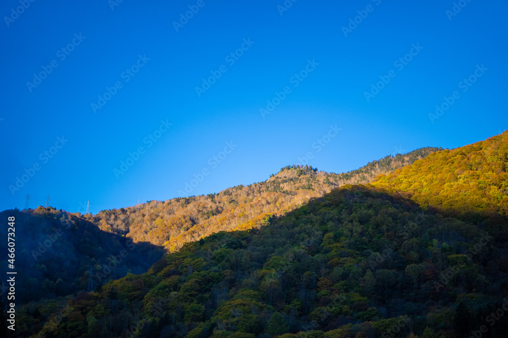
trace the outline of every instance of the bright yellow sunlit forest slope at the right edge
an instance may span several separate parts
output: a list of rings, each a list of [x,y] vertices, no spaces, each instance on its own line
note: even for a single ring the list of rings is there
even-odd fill
[[[372,186],[402,193],[422,206],[508,215],[508,131],[433,153],[380,176]]]

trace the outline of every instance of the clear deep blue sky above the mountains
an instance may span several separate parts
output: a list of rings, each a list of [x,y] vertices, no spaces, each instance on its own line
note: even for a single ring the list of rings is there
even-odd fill
[[[313,167],[343,172],[508,128],[504,1],[464,1],[453,16],[453,1],[437,0],[298,0],[287,11],[277,8],[283,0],[204,0],[202,7],[123,0],[113,10],[111,3],[39,0],[19,15],[12,13],[19,0],[0,5],[0,209],[22,209],[28,193],[30,207],[50,195],[56,208],[77,211],[89,200],[97,213],[178,197],[203,169],[208,175],[186,195],[265,180],[308,152]],[[188,6],[199,11],[175,28]],[[358,15],[365,18],[345,36],[342,27]],[[241,56],[228,57],[235,51]],[[394,64],[404,56],[411,60]],[[52,62],[57,67],[34,80]],[[481,77],[461,85],[477,65]],[[306,78],[294,77],[306,67]],[[198,94],[217,71],[220,78]],[[390,82],[367,101],[379,77]],[[93,109],[106,87],[115,95]],[[284,87],[288,94],[280,94]],[[460,97],[432,123],[429,113],[454,91]],[[263,116],[275,92],[285,98]],[[161,127],[162,120],[172,125]],[[166,131],[155,133],[156,142],[145,139],[159,128]],[[231,141],[233,150],[221,154]],[[115,174],[138,147],[144,154]],[[46,158],[45,151],[56,153]],[[9,185],[25,169],[33,177],[13,195]]]

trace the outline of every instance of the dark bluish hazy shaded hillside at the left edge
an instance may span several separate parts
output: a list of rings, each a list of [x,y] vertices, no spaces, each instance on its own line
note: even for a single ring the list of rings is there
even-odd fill
[[[133,244],[132,240],[101,231],[90,215],[83,218],[79,213],[51,207],[28,212],[6,210],[0,213],[6,226],[9,216],[15,217],[15,269],[8,269],[6,239],[0,243],[5,255],[0,271],[4,276],[6,271],[17,272],[16,304],[19,305],[41,297],[86,290],[90,268],[97,286],[128,272],[145,272],[163,255],[162,248],[150,243]]]

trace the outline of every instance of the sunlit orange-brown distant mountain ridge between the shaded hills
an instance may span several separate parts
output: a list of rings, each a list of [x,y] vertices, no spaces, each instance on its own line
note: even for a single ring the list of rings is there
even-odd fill
[[[217,194],[151,201],[136,207],[104,210],[100,227],[134,241],[164,245],[171,251],[218,231],[259,228],[270,217],[283,215],[344,184],[367,183],[425,158],[442,148],[420,148],[405,155],[387,156],[347,173],[312,167],[287,166],[260,183],[238,185]]]

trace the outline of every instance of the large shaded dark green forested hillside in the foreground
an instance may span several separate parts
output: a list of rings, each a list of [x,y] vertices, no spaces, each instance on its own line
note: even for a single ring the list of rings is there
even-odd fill
[[[61,320],[26,315],[42,304],[22,319],[46,336],[469,336],[508,294],[506,225],[345,186],[53,306]],[[483,337],[505,332],[501,316]]]

